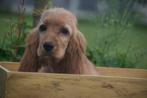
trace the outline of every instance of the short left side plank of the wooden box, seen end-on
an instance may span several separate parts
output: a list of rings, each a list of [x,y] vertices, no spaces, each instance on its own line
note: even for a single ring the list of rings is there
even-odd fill
[[[5,88],[8,70],[0,66],[0,98],[5,98]]]

